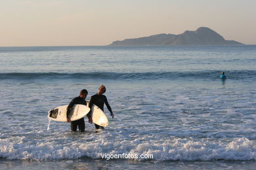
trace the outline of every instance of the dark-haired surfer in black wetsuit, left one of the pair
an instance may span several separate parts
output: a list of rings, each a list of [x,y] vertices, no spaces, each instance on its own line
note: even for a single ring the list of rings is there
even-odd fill
[[[81,90],[81,92],[79,93],[79,96],[72,99],[72,101],[70,101],[70,104],[68,105],[67,122],[70,122],[71,131],[76,131],[77,126],[80,132],[85,131],[85,120],[83,118],[80,118],[79,120],[75,120],[75,121],[70,121],[70,118],[68,118],[68,116],[70,114],[70,109],[72,109],[74,105],[87,105],[85,101],[87,94],[88,94],[87,90],[85,89]],[[88,119],[89,119],[89,123],[92,124],[93,120],[90,115],[88,116]]]

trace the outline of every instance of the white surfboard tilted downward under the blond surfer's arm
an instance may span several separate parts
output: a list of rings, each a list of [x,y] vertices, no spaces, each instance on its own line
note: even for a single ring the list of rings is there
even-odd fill
[[[88,101],[87,101],[87,105],[89,105]],[[97,107],[96,105],[93,105],[93,107],[91,108],[91,114],[92,114],[93,123],[103,127],[108,126],[108,118],[106,117],[106,114],[104,114],[104,112],[99,107]]]

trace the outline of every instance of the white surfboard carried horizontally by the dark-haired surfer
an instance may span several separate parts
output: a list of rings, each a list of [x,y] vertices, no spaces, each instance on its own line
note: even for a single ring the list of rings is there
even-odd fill
[[[68,105],[64,105],[49,110],[47,118],[58,122],[67,122],[67,108]],[[74,105],[70,110],[69,118],[71,121],[79,120],[88,114],[90,110],[91,109],[85,105]]]

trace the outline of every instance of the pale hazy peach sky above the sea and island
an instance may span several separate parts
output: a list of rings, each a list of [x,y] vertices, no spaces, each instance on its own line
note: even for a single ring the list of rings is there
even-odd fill
[[[256,44],[255,0],[0,0],[0,46],[106,45],[204,26]]]

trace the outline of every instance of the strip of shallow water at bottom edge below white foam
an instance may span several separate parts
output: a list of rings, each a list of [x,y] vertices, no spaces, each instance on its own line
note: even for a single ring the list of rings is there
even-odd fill
[[[6,160],[0,169],[253,169],[256,161]]]

